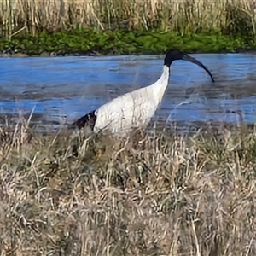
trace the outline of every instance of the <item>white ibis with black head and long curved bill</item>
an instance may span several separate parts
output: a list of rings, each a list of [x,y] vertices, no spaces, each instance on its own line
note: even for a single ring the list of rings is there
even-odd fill
[[[200,61],[179,49],[169,49],[164,59],[163,71],[154,84],[118,96],[90,113],[77,119],[71,127],[90,131],[123,133],[135,128],[146,128],[160,107],[170,78],[173,61],[189,61],[203,68],[214,83],[212,73]]]

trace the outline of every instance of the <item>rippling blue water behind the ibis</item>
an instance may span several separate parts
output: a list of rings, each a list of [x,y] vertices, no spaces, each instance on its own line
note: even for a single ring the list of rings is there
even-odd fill
[[[229,121],[241,111],[254,123],[256,55],[193,55],[212,72],[213,84],[200,67],[172,64],[171,79],[155,119]],[[0,113],[40,115],[35,123],[67,117],[72,122],[116,96],[154,83],[163,55],[70,56],[0,59]]]

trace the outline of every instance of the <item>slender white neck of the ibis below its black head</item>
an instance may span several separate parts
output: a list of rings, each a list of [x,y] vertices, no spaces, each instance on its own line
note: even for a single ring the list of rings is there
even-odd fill
[[[166,92],[166,88],[169,82],[169,76],[170,68],[165,65],[160,78],[150,86],[153,89],[153,97],[159,104],[162,101],[162,98]]]

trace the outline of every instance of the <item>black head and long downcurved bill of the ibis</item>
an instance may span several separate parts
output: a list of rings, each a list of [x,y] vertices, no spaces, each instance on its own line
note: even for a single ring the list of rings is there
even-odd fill
[[[214,83],[212,73],[207,69],[207,67],[205,67],[200,61],[195,60],[195,58],[183,53],[179,49],[170,49],[167,51],[164,65],[166,65],[167,67],[170,67],[173,61],[178,61],[178,60],[189,61],[203,68],[210,75],[212,82]]]

